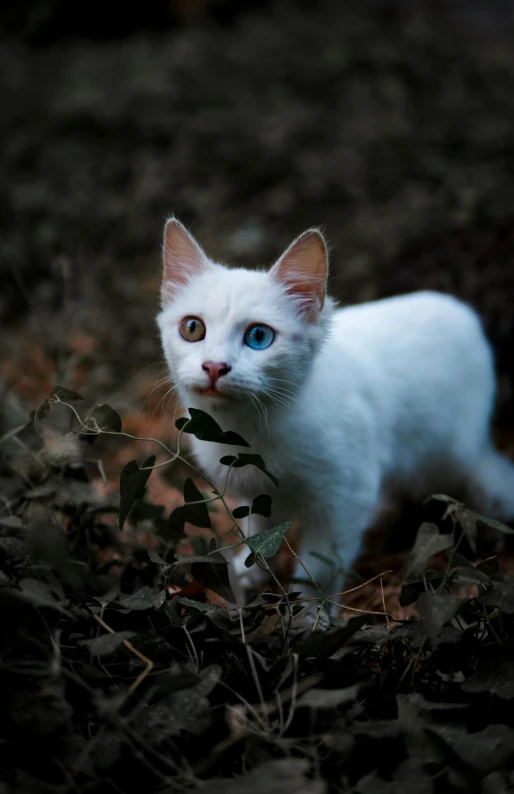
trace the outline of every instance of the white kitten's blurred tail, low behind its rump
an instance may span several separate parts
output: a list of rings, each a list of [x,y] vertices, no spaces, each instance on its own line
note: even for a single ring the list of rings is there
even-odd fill
[[[514,464],[488,444],[468,483],[469,504],[483,515],[514,521]]]

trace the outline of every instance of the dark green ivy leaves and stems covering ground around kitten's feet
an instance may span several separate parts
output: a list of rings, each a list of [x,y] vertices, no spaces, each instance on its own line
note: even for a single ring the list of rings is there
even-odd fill
[[[201,491],[180,443],[194,433],[229,452],[241,438],[190,411],[176,451],[156,443],[126,464],[120,494],[105,496],[95,486],[102,456],[113,437],[127,439],[112,408],[79,405],[56,387],[28,421],[3,419],[2,794],[514,785],[514,577],[496,558],[471,561],[481,525],[509,527],[438,497],[440,519],[417,532],[398,610],[347,621],[321,610],[312,630],[277,581],[232,606],[213,509],[242,545],[239,519],[266,514],[270,500],[234,508],[224,491]],[[227,483],[242,465],[273,480],[272,461],[251,453],[224,463]],[[170,467],[185,480],[171,512],[148,498]],[[202,530],[187,545],[186,524]],[[272,574],[288,531],[246,541],[248,565]],[[406,608],[413,616],[399,619]]]

